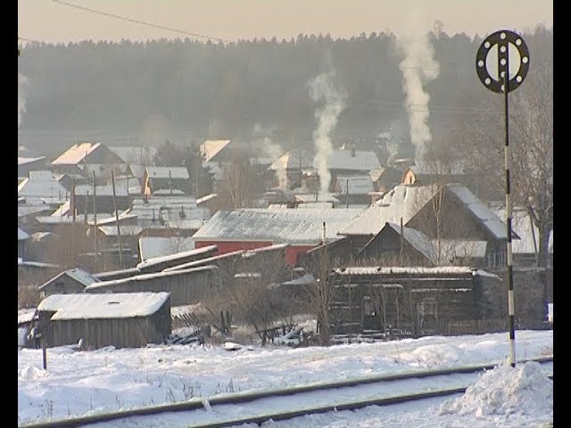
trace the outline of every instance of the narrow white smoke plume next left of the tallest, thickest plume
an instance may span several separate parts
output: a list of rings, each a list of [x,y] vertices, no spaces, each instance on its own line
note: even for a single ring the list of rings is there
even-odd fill
[[[313,166],[318,170],[321,193],[329,192],[331,173],[327,165],[327,158],[333,152],[330,134],[337,124],[339,114],[345,107],[347,97],[343,88],[335,88],[333,85],[334,76],[335,73],[330,71],[322,73],[308,82],[311,100],[325,102],[322,108],[315,111],[315,117],[319,120],[319,124],[318,128],[313,131],[313,143],[316,149]]]

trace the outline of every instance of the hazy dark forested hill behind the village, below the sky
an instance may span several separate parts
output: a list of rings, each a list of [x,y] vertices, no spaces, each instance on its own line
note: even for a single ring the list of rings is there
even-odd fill
[[[540,56],[552,62],[552,29],[539,27],[523,36],[532,70]],[[476,77],[482,38],[446,33],[429,38],[439,72],[425,90],[430,124],[439,132],[461,120],[454,113],[475,97],[491,93]],[[319,105],[311,100],[308,81],[330,71],[335,87],[347,95],[336,137],[377,135],[395,124],[406,128],[403,56],[395,41],[392,34],[371,33],[229,45],[189,39],[29,44],[18,58],[25,103],[19,140],[33,146],[39,140],[122,138],[124,144],[129,136],[134,144],[137,139],[153,144],[165,137],[247,138],[261,128],[274,129],[276,138],[295,145],[310,140],[316,127]]]

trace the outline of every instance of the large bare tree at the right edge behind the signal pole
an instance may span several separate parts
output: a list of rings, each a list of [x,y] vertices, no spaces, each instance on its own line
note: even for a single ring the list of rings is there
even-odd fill
[[[534,36],[530,72],[509,93],[510,191],[514,206],[523,207],[537,227],[537,266],[547,267],[553,229],[553,34],[538,28]],[[504,96],[472,99],[478,109],[464,122],[459,148],[486,178],[485,187],[503,193]]]

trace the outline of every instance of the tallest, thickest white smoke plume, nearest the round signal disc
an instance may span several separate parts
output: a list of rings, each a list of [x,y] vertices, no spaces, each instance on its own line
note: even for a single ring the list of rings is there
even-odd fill
[[[409,113],[410,141],[415,146],[415,159],[422,160],[425,144],[432,136],[428,127],[428,95],[424,89],[427,82],[438,77],[440,67],[434,60],[434,47],[427,34],[399,39],[404,60],[399,67],[402,72],[402,90],[406,95],[405,106]]]

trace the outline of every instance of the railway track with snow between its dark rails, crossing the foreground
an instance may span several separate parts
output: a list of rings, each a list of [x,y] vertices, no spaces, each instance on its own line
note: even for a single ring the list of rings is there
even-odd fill
[[[522,359],[518,363],[527,361],[552,365],[553,357]],[[90,425],[103,428],[117,426],[117,424],[122,427],[186,426],[188,428],[221,428],[247,423],[260,425],[270,419],[286,420],[298,416],[355,410],[373,405],[388,406],[418,399],[461,394],[466,391],[467,385],[474,382],[479,373],[495,366],[497,364],[409,371],[334,383],[313,383],[280,390],[246,391],[217,395],[209,399],[192,399],[175,404],[21,424],[19,428],[71,428]],[[453,379],[451,374],[455,374]],[[550,378],[553,378],[552,374]],[[431,386],[435,381],[444,385],[444,388],[435,390]],[[398,390],[407,392],[399,394],[395,392]],[[327,391],[329,392],[324,394]],[[357,398],[349,399],[350,397]],[[264,413],[260,410],[276,407],[277,399],[287,400],[287,408],[290,408],[290,411]],[[212,409],[215,409],[219,415],[235,415],[235,417],[221,419],[216,416],[216,412],[212,412]]]

